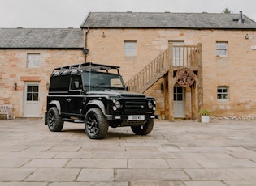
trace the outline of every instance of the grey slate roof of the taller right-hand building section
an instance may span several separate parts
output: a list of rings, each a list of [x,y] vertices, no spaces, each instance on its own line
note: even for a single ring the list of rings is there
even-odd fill
[[[256,22],[240,14],[91,12],[81,28],[256,29]]]

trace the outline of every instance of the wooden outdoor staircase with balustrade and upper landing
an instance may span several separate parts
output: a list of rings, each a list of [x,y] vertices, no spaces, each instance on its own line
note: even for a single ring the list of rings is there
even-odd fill
[[[201,47],[201,44],[173,46],[170,43],[168,49],[126,83],[128,90],[143,93],[171,68],[179,70],[184,67],[202,66]]]

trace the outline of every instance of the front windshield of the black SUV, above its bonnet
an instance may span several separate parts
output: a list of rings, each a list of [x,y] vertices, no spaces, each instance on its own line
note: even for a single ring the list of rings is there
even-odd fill
[[[120,74],[102,72],[85,72],[83,74],[85,90],[99,91],[102,88],[124,90],[124,82]],[[90,84],[90,88],[89,88]]]

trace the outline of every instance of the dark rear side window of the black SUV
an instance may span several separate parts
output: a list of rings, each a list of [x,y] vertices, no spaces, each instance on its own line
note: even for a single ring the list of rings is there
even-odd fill
[[[50,78],[49,91],[68,91],[69,89],[70,76],[52,76]]]

